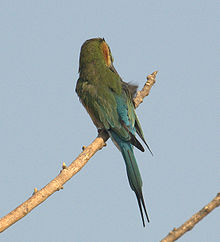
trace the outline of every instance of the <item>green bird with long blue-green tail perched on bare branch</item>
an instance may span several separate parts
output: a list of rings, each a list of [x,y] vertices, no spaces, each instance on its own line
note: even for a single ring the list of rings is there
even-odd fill
[[[142,179],[133,152],[133,146],[144,151],[135,137],[137,133],[147,145],[135,113],[133,97],[137,86],[122,81],[113,66],[113,58],[104,38],[87,40],[81,47],[79,79],[76,93],[98,130],[108,132],[125,160],[128,181],[135,192],[143,226],[147,214],[142,194]],[[150,151],[151,152],[151,151]]]

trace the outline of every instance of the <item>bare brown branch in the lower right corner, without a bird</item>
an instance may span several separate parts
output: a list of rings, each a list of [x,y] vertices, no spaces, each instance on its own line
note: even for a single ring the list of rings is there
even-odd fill
[[[208,215],[213,209],[220,206],[220,193],[202,208],[198,213],[194,214],[189,220],[187,220],[179,228],[174,228],[161,242],[173,242],[179,239],[183,234],[190,231],[199,221],[201,221],[206,215]]]

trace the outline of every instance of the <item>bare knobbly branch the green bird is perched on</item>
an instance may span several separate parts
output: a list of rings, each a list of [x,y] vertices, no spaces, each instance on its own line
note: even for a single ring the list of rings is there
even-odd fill
[[[154,72],[147,77],[145,86],[142,91],[138,92],[137,97],[134,99],[135,107],[143,102],[143,98],[149,94],[151,87],[155,83],[156,74],[157,72]],[[37,191],[37,188],[35,188],[33,195],[28,200],[0,219],[0,232],[3,232],[12,224],[26,216],[32,209],[45,201],[54,192],[62,189],[63,185],[79,172],[98,150],[106,145],[105,142],[108,138],[109,136],[107,133],[101,132],[89,146],[83,147],[81,154],[70,164],[69,167],[63,164],[63,169],[57,177],[41,190]]]

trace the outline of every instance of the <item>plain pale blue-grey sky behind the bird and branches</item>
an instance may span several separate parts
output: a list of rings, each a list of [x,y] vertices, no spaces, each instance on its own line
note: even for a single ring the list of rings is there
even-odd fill
[[[96,137],[75,93],[81,45],[104,37],[153,150],[135,152],[151,223],[142,227],[112,142],[0,235],[5,242],[159,241],[220,191],[219,1],[0,2],[0,159],[3,216],[41,189]],[[217,20],[218,19],[218,20]],[[216,209],[179,241],[220,239]]]

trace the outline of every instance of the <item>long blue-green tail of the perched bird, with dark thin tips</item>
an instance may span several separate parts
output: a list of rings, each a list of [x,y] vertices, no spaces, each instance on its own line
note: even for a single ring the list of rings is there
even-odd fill
[[[145,202],[144,202],[144,197],[142,194],[142,179],[141,179],[141,174],[139,172],[137,162],[134,156],[133,152],[133,146],[126,141],[121,140],[115,133],[111,132],[111,137],[115,143],[115,145],[120,149],[122,156],[125,160],[125,165],[126,165],[126,170],[127,170],[127,175],[128,175],[128,181],[130,184],[131,189],[135,192],[137,201],[138,201],[138,206],[140,209],[141,213],[141,219],[143,222],[143,226],[145,227],[145,221],[144,221],[144,213],[146,215],[147,221],[150,222]],[[143,209],[142,209],[143,208]]]

